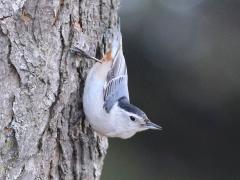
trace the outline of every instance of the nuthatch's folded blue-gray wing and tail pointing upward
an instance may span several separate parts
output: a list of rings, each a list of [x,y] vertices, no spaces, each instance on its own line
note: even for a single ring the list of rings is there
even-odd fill
[[[112,67],[108,72],[103,92],[104,108],[107,112],[121,97],[129,100],[127,66],[122,51],[121,33],[118,32],[115,36],[112,43]]]

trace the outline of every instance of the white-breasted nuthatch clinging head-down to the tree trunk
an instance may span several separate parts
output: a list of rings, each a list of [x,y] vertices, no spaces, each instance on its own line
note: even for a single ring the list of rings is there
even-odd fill
[[[110,50],[101,60],[76,47],[72,51],[96,61],[85,80],[83,110],[98,134],[127,139],[140,131],[162,129],[151,122],[140,108],[130,103],[127,66],[119,29],[113,31]]]

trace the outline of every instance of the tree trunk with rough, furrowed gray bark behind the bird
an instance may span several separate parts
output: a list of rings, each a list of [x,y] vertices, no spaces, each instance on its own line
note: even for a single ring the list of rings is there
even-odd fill
[[[0,179],[99,179],[108,146],[82,92],[118,0],[0,0]]]

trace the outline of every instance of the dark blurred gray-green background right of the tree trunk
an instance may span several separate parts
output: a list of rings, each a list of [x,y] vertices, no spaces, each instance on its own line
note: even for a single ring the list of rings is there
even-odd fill
[[[122,0],[130,97],[163,131],[109,139],[102,180],[240,179],[240,1]]]

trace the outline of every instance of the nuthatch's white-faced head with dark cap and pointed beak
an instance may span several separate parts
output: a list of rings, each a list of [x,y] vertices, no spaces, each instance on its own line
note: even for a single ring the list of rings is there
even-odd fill
[[[118,100],[113,108],[113,116],[119,128],[119,137],[124,139],[147,129],[162,129],[161,126],[152,123],[141,109],[130,104],[127,98]]]

